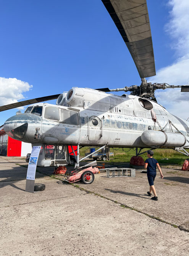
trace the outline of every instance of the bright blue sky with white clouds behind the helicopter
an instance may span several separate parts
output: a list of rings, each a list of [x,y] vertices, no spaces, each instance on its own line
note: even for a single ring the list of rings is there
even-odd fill
[[[149,81],[189,84],[188,2],[147,0],[157,71]],[[101,0],[1,0],[0,8],[0,105],[76,86],[140,85]],[[186,120],[189,95],[168,90],[156,92],[158,102]],[[0,112],[0,124],[16,111]]]

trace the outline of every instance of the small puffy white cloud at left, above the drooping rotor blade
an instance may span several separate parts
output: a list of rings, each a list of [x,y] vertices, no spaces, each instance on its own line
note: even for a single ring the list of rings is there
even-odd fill
[[[0,106],[3,106],[24,99],[23,92],[29,91],[32,85],[16,78],[0,77],[0,88]]]

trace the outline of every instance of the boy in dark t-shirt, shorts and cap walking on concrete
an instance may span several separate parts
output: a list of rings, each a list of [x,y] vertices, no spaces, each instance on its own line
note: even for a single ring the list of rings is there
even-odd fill
[[[147,151],[148,159],[145,160],[144,168],[147,168],[147,177],[148,177],[148,181],[149,181],[149,185],[150,185],[150,191],[148,191],[147,194],[149,196],[152,196],[151,192],[153,192],[154,197],[152,197],[151,199],[157,201],[158,197],[156,195],[155,187],[153,185],[153,182],[154,182],[155,176],[156,176],[156,167],[158,168],[158,170],[160,172],[161,178],[163,178],[163,174],[162,174],[162,170],[158,164],[158,161],[156,159],[154,159],[152,156],[153,156],[153,151],[148,150]]]

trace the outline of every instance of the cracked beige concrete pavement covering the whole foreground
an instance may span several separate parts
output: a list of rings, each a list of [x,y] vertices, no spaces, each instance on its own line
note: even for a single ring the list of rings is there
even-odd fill
[[[10,166],[14,164],[13,160]],[[2,168],[0,164],[0,172]],[[163,172],[165,174],[166,170]],[[170,177],[176,179],[179,175],[167,173],[165,180],[156,178],[159,201],[152,201],[145,195],[148,187],[145,173],[137,173],[136,178],[108,179],[102,177],[104,175],[96,174],[91,185],[78,185],[111,200],[45,175],[36,178],[36,183],[46,185],[45,190],[38,193],[24,191],[25,177],[23,180],[0,182],[1,254],[188,255],[188,232],[112,201],[132,205],[156,217],[162,214],[163,218],[165,213],[164,218],[169,222],[186,222],[187,201],[183,204],[177,200],[174,205],[171,197],[173,192],[180,196],[182,189],[185,194],[188,192],[187,183],[170,180]],[[176,185],[166,185],[165,182]],[[180,187],[181,184],[184,187]],[[167,195],[166,201],[163,193]]]

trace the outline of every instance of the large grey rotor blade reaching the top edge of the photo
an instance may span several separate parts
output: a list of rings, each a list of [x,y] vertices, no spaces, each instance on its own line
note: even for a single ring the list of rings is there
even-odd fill
[[[102,0],[131,53],[141,78],[155,76],[146,0]]]

